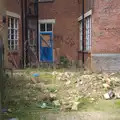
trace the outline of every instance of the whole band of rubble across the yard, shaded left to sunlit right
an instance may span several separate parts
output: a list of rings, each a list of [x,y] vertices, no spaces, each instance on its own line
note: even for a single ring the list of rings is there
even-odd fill
[[[14,74],[14,79],[7,86],[8,90],[12,88],[9,100],[17,98],[17,103],[21,99],[31,103],[42,101],[41,108],[45,108],[49,101],[62,110],[78,110],[82,102],[120,99],[120,77],[115,74],[56,71],[49,74],[56,82],[41,81],[40,73]]]

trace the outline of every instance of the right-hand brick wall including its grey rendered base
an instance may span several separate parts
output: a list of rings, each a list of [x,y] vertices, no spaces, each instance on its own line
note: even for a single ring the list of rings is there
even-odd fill
[[[115,54],[117,53],[117,54]],[[94,71],[120,71],[120,0],[94,0],[92,64]]]

